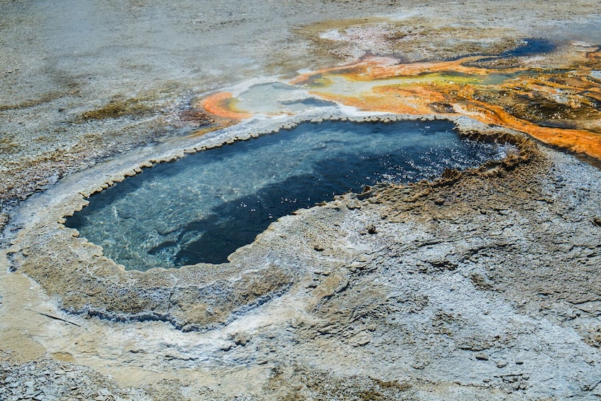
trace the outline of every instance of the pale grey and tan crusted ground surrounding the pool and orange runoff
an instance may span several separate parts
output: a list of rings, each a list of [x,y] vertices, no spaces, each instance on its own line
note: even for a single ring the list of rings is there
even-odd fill
[[[601,171],[516,131],[456,118],[520,153],[303,209],[224,265],[126,272],[60,224],[150,161],[290,123],[191,138],[204,92],[365,53],[600,44],[600,5],[4,1],[0,400],[601,397]]]

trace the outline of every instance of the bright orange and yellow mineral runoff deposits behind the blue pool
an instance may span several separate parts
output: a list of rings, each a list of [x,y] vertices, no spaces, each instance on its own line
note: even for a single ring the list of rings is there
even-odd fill
[[[495,57],[401,63],[365,57],[353,65],[299,75],[290,84],[362,111],[469,116],[601,160],[601,48],[580,52],[565,68],[482,67]],[[597,71],[597,72],[595,72]],[[206,97],[207,112],[248,119],[228,92]]]

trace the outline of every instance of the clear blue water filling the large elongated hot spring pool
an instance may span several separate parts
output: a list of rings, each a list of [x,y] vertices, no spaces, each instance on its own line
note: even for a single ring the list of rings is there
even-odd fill
[[[376,182],[437,177],[502,158],[448,121],[302,123],[188,155],[94,194],[67,226],[128,269],[225,263],[281,216]]]

